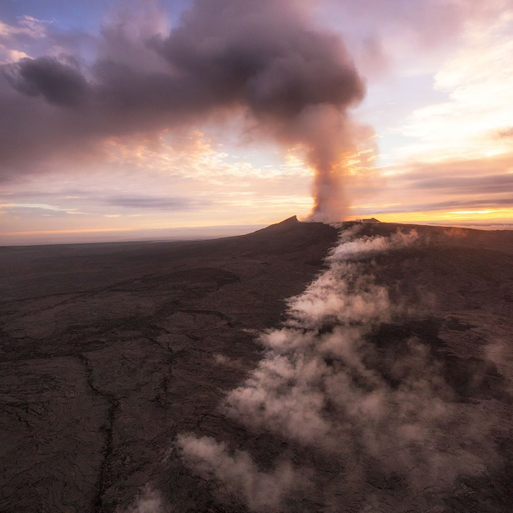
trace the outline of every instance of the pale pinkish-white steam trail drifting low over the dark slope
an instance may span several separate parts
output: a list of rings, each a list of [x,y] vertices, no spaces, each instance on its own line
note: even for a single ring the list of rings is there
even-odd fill
[[[387,354],[372,341],[401,308],[362,258],[415,244],[417,233],[354,234],[343,232],[328,270],[290,300],[283,327],[261,335],[264,358],[221,406],[251,435],[288,444],[273,455],[274,469],[211,437],[177,438],[186,464],[219,484],[221,500],[235,495],[263,513],[428,510],[443,507],[458,476],[495,465],[494,421],[457,401],[429,348],[410,337]]]

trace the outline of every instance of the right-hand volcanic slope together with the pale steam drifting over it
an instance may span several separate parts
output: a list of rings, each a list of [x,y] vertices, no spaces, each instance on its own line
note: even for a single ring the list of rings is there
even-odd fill
[[[509,511],[513,234],[340,231],[183,460],[235,511]]]

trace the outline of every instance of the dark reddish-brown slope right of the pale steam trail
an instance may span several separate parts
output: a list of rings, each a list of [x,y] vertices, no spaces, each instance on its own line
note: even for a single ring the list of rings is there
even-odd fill
[[[428,399],[434,397],[440,404],[443,397],[440,418],[447,420],[447,434],[433,449],[433,459],[450,454],[446,472],[440,476],[446,486],[429,489],[429,476],[421,476],[423,486],[417,491],[422,491],[411,510],[509,511],[508,498],[513,496],[513,231],[381,223],[364,225],[358,237],[389,238],[398,230],[414,231],[418,237],[412,244],[371,253],[361,261],[362,273],[386,287],[396,307],[391,319],[374,326],[368,336],[376,350],[373,357],[379,358],[369,367],[377,369],[392,388],[400,389],[406,372],[402,374],[398,367],[410,365],[412,352],[425,351],[422,359],[427,367],[417,369],[412,364],[410,369],[419,372],[415,386],[424,384],[425,374],[427,380],[440,382],[438,393],[431,391]],[[434,410],[437,402],[425,407]],[[418,442],[432,447],[432,440]],[[460,449],[474,457],[467,472],[459,466]],[[397,484],[388,478],[378,479],[377,486],[383,483],[388,489],[382,496],[392,496]],[[397,511],[398,504],[392,508],[381,504],[377,509]],[[407,503],[401,506],[408,509]]]

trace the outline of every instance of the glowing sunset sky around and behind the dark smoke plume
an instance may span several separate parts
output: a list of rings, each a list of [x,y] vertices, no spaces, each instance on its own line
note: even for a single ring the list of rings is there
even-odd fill
[[[497,1],[493,12],[461,12],[437,46],[421,37],[420,20],[357,10],[353,27],[334,21],[344,5],[321,2],[312,16],[340,31],[367,82],[354,110],[369,128],[349,160],[349,219],[513,226],[513,8]],[[37,19],[4,21],[0,62],[32,56],[48,30]],[[369,34],[379,52],[366,50]],[[44,172],[0,184],[0,244],[305,218],[304,152],[241,135],[243,125],[241,113],[193,130],[110,137],[74,162],[55,156]]]

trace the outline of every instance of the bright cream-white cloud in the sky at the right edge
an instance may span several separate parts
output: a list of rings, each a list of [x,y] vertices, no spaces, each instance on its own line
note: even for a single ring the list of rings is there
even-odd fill
[[[445,55],[433,88],[444,101],[413,111],[397,131],[413,137],[397,156],[424,161],[510,153],[497,137],[511,119],[513,11],[503,5],[487,23],[467,23],[457,49]]]

